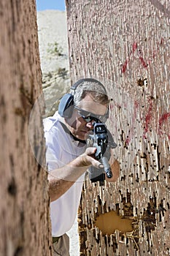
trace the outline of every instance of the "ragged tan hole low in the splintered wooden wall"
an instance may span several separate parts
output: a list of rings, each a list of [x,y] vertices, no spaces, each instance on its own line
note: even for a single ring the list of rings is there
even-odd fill
[[[116,211],[109,211],[97,217],[95,225],[102,231],[103,235],[111,235],[115,230],[120,230],[122,233],[133,231],[133,219],[125,219],[117,215]]]

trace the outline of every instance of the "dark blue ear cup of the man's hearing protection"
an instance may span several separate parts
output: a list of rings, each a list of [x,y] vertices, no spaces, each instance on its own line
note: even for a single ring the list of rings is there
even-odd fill
[[[72,116],[74,106],[74,96],[72,94],[64,94],[58,105],[58,113],[64,118],[70,118]]]

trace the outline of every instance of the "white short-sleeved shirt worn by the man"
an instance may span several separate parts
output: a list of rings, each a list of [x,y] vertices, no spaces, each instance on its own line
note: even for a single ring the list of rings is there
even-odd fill
[[[85,144],[65,132],[60,121],[58,112],[44,119],[48,171],[66,165],[85,151]],[[65,194],[50,203],[52,236],[62,236],[74,224],[84,177],[83,174]]]

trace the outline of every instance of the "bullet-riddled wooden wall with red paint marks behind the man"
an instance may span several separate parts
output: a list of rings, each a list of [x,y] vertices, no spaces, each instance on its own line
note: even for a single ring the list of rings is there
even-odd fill
[[[69,0],[66,7],[72,81],[92,77],[107,87],[120,162],[115,184],[85,181],[81,255],[169,255],[169,1]],[[133,220],[131,233],[104,236],[95,226],[112,210]]]

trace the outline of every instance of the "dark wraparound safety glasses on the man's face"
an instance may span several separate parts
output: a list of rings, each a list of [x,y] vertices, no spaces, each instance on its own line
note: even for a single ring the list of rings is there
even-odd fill
[[[88,111],[82,110],[81,108],[78,108],[77,106],[74,106],[74,108],[78,111],[78,114],[88,123],[90,121],[96,121],[105,123],[107,121],[107,115],[96,115],[94,113],[90,113]]]

